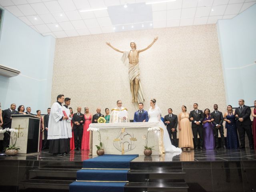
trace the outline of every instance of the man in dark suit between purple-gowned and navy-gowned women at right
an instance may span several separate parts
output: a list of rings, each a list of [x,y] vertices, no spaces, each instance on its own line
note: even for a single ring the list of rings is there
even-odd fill
[[[213,106],[214,111],[211,113],[211,119],[214,119],[212,124],[214,125],[213,131],[214,131],[214,138],[215,138],[215,148],[219,148],[218,146],[218,136],[220,132],[221,137],[221,145],[224,149],[226,149],[225,145],[225,138],[224,138],[224,128],[223,128],[223,114],[222,112],[218,111],[218,105],[214,104]]]

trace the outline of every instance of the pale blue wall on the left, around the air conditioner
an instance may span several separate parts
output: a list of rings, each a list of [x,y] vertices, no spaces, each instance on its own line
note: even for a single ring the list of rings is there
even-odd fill
[[[0,64],[16,68],[21,74],[0,76],[2,110],[15,103],[46,112],[50,106],[55,38],[42,36],[7,10],[0,34]]]

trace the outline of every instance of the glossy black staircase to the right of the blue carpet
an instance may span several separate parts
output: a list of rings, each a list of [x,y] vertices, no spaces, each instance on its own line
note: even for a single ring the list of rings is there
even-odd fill
[[[175,162],[130,162],[124,192],[188,192],[185,172]]]

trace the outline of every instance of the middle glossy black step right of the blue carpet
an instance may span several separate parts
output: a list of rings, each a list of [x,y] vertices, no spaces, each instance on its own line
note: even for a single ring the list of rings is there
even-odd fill
[[[129,170],[129,182],[184,182],[184,170]]]

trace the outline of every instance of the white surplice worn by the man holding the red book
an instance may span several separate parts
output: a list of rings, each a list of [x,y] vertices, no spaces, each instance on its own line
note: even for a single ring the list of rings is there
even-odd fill
[[[64,128],[65,120],[60,121],[60,119],[64,116],[62,111],[63,111],[63,108],[58,102],[55,102],[52,105],[50,117],[49,117],[49,123],[48,123],[47,140],[68,138],[67,131],[65,131],[65,128]]]

